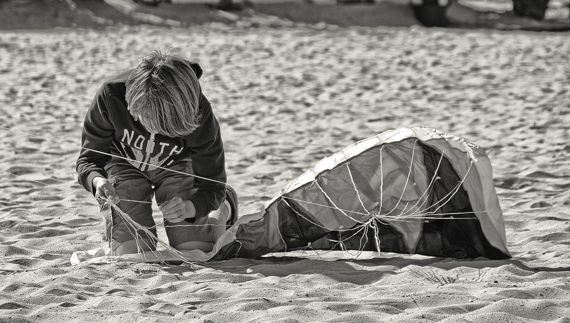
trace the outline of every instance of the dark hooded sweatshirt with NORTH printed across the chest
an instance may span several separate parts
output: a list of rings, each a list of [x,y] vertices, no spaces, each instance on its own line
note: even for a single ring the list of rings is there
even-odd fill
[[[190,63],[190,66],[199,79],[202,69],[198,63]],[[154,170],[156,166],[168,168],[173,163],[192,160],[193,173],[207,179],[194,178],[197,191],[190,201],[196,208],[197,218],[206,216],[223,202],[223,183],[226,182],[222,138],[210,102],[200,93],[201,125],[188,136],[172,138],[150,133],[135,121],[127,109],[125,82],[133,71],[129,69],[103,83],[85,117],[82,147],[129,158],[131,161],[128,162],[141,171]],[[79,183],[92,192],[93,178],[107,178],[105,166],[119,160],[118,157],[82,149],[76,167]],[[194,222],[194,219],[186,220]]]

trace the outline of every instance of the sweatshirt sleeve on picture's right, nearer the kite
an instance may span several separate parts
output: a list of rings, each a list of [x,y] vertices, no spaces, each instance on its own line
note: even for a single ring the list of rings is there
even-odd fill
[[[205,98],[203,100],[203,104],[207,104],[205,115],[202,116],[203,124],[198,128],[196,139],[190,145],[194,174],[207,178],[194,178],[197,191],[190,201],[196,208],[196,218],[217,210],[226,198],[226,166],[219,124],[211,111],[210,103]],[[194,219],[186,220],[194,222]]]

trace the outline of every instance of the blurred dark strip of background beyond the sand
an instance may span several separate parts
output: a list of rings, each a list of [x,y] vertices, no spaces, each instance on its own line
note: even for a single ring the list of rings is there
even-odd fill
[[[570,0],[0,0],[0,28],[124,24],[570,29]]]

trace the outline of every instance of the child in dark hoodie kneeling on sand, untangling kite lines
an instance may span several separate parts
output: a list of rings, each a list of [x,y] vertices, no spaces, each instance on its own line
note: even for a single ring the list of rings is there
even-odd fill
[[[177,250],[209,252],[226,229],[231,210],[224,204],[223,144],[198,83],[201,75],[197,63],[157,48],[135,69],[105,81],[93,99],[83,125],[78,181],[154,235],[136,231],[113,210],[105,223],[113,255],[156,250],[151,204],[137,202],[152,202],[153,195]]]

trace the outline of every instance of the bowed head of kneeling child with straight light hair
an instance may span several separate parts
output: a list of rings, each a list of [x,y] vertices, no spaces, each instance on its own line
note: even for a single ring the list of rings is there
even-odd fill
[[[158,47],[127,80],[128,109],[149,132],[182,137],[200,125],[200,83],[188,61]]]

